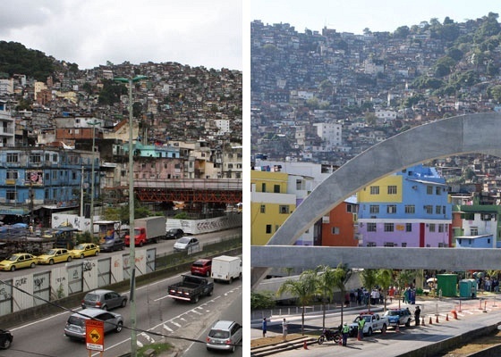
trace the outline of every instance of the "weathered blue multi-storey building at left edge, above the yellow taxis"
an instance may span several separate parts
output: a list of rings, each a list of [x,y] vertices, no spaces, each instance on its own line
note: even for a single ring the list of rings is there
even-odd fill
[[[99,153],[59,147],[3,147],[0,149],[0,214],[29,215],[44,226],[52,212],[78,208],[81,192],[99,196]],[[83,176],[82,176],[83,175]],[[26,219],[25,219],[26,220]]]

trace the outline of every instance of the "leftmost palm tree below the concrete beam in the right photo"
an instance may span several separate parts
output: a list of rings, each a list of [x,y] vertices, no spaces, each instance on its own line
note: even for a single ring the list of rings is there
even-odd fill
[[[288,279],[282,284],[276,295],[289,293],[295,296],[301,303],[301,335],[304,335],[304,309],[311,302],[315,295],[317,285],[317,272],[315,270],[304,270],[298,280]]]

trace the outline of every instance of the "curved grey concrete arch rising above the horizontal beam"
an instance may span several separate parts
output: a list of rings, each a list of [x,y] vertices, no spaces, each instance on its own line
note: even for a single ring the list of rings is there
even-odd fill
[[[267,245],[293,245],[306,229],[337,204],[342,203],[346,197],[397,170],[457,154],[482,153],[501,156],[500,138],[501,114],[492,112],[437,120],[390,137],[346,162],[315,188],[278,228]],[[276,252],[268,255],[260,248],[259,255],[266,254],[270,262],[277,259]],[[251,248],[250,253],[251,266],[254,267],[252,262],[258,251],[254,252],[254,248]],[[303,265],[298,260],[301,261],[301,255],[296,256],[293,265],[287,266],[310,265]],[[253,285],[263,278],[266,270],[252,270]]]

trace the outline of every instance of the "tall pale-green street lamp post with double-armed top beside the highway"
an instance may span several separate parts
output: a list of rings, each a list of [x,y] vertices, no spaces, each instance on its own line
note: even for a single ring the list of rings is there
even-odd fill
[[[134,235],[134,155],[132,145],[132,131],[134,126],[132,124],[132,85],[141,79],[146,79],[146,76],[136,76],[134,78],[116,78],[115,80],[122,83],[129,84],[129,275],[131,277],[131,357],[136,357],[138,336],[136,332],[136,250],[135,250],[135,235]]]

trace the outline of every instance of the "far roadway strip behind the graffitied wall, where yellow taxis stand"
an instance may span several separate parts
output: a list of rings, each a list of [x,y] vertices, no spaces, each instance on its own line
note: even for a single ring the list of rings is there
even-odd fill
[[[196,237],[200,240],[200,249],[203,250],[203,245],[212,243],[212,242],[217,242],[219,239],[222,237],[233,237],[237,235],[242,235],[242,228],[233,228],[233,229],[226,229],[223,231],[218,231],[218,232],[211,232],[211,233],[206,233],[203,235],[197,235],[197,236],[192,236]],[[174,239],[169,239],[169,240],[161,240],[157,244],[151,244],[151,245],[143,245],[142,248],[137,247],[136,249],[149,249],[149,248],[156,248],[157,249],[157,255],[161,255],[164,253],[169,253],[173,252],[173,247],[174,247],[175,240]],[[112,256],[113,254],[123,254],[123,253],[129,253],[129,248],[124,247],[123,251],[119,252],[114,252],[114,253],[100,253],[97,257],[86,257],[86,261],[92,261],[92,260],[97,260],[99,257],[109,257]],[[80,259],[74,259],[72,263],[74,262],[81,262]],[[15,270],[15,271],[0,271],[0,280],[8,280],[10,278],[16,278],[16,277],[21,277],[25,276],[27,274],[31,273],[39,273],[42,271],[47,271],[47,270],[52,270],[55,267],[60,267],[64,265],[65,263],[58,263],[55,265],[37,265],[35,268],[30,269],[20,269],[20,270]]]

